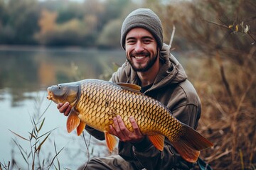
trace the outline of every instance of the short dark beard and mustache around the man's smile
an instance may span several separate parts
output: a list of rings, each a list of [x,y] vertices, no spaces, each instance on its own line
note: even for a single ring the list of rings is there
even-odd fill
[[[150,58],[150,60],[146,62],[145,66],[142,66],[142,64],[139,64],[139,66],[135,66],[135,64],[132,62],[132,59],[131,59],[131,56],[134,56],[134,55],[148,56],[149,53],[148,52],[142,52],[142,53],[134,52],[134,53],[129,54],[130,57],[127,57],[127,60],[129,62],[129,64],[131,64],[132,69],[134,69],[135,72],[146,72],[146,71],[148,71],[154,65],[154,63],[157,60],[157,56],[158,56],[158,54],[156,54],[155,56]]]

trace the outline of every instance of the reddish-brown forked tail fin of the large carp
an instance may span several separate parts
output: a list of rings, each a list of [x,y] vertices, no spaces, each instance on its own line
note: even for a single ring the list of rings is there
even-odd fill
[[[183,135],[180,140],[171,142],[181,157],[187,162],[196,162],[200,151],[208,147],[213,147],[213,143],[200,135],[196,130],[184,125]]]

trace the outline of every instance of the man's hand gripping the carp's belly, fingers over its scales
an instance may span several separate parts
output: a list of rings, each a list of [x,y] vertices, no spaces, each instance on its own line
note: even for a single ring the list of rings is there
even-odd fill
[[[121,140],[122,142],[141,142],[144,139],[144,135],[139,130],[139,126],[137,125],[134,118],[131,116],[129,118],[130,123],[132,123],[132,128],[134,132],[130,132],[126,126],[124,125],[124,121],[122,120],[120,115],[117,115],[117,118],[113,118],[114,120],[114,127],[110,125],[110,133],[115,135]]]

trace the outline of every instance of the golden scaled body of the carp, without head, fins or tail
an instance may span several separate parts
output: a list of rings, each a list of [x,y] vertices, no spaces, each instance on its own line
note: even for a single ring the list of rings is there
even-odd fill
[[[108,131],[112,118],[117,115],[129,130],[132,131],[129,117],[133,116],[142,134],[161,134],[171,142],[178,140],[183,130],[182,124],[159,101],[105,81],[82,82],[75,109],[80,113],[80,120],[100,131]]]

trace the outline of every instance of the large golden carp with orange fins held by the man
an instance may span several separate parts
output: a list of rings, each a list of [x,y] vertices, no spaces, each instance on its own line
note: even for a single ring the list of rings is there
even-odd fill
[[[114,84],[109,81],[85,79],[48,87],[48,100],[55,103],[68,101],[72,109],[68,115],[67,130],[77,129],[78,135],[89,125],[105,133],[107,147],[112,152],[117,143],[109,133],[113,118],[120,115],[127,128],[131,116],[139,130],[147,135],[156,149],[164,149],[164,139],[176,148],[188,162],[196,162],[200,151],[212,147],[213,143],[196,130],[177,120],[164,104],[140,92],[135,84]]]

